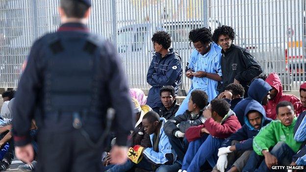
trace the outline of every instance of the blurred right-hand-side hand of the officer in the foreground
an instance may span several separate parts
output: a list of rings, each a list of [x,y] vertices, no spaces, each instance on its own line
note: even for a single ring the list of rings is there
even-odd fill
[[[123,164],[128,160],[128,147],[114,146],[110,151],[111,164]]]

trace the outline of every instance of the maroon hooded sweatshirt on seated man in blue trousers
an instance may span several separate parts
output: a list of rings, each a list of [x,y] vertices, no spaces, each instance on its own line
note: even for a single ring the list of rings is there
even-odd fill
[[[209,118],[205,121],[203,125],[192,126],[187,129],[185,136],[188,142],[192,142],[202,137],[201,129],[206,128],[210,135],[213,137],[226,139],[232,133],[236,132],[241,125],[232,110],[229,110],[228,114],[223,118],[223,120],[218,123],[214,119]]]

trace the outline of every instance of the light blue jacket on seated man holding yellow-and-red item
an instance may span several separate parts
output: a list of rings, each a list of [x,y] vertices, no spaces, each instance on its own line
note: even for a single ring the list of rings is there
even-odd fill
[[[153,150],[153,147],[147,147],[143,151],[144,157],[154,165],[162,165],[165,163],[169,163],[168,161],[175,162],[177,159],[177,154],[175,150],[172,148],[168,136],[164,132],[164,124],[167,122],[165,118],[160,118],[162,125],[160,127],[159,132],[159,143],[158,143],[158,152]],[[151,144],[153,145],[155,134],[150,135]],[[170,157],[170,158],[169,158]],[[170,165],[170,164],[169,164]]]

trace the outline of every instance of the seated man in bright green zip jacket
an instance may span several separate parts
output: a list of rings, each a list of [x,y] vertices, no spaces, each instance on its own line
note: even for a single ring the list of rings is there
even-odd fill
[[[270,172],[271,167],[288,166],[292,156],[302,145],[294,138],[294,125],[297,121],[292,103],[280,101],[276,106],[277,118],[263,127],[253,139],[254,152],[251,153],[243,172]]]

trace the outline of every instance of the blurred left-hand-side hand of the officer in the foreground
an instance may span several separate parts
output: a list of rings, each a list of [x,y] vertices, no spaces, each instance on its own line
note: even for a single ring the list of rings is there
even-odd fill
[[[15,147],[15,153],[16,157],[26,164],[30,164],[34,159],[34,150],[31,144],[23,147]]]

